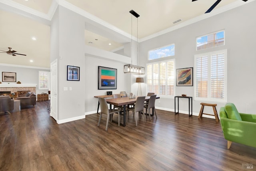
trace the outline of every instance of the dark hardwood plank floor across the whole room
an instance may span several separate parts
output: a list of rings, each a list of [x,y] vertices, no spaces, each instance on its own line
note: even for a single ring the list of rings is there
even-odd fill
[[[227,149],[214,119],[156,110],[144,123],[138,116],[126,127],[106,115],[58,125],[46,110],[48,101],[20,112],[0,113],[0,170],[74,171],[241,171],[256,170],[256,148],[232,143]],[[117,120],[114,117],[113,120]]]

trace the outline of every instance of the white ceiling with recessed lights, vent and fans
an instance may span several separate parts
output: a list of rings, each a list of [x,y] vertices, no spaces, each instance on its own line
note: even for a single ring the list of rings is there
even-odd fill
[[[50,20],[58,4],[75,9],[87,18],[127,38],[144,41],[170,30],[252,2],[222,0],[212,12],[204,14],[216,0],[0,0],[0,50],[16,50],[27,56],[0,53],[0,63],[50,67]],[[134,10],[137,20],[129,11]],[[32,17],[33,16],[33,17]],[[173,24],[181,19],[181,22]],[[132,23],[131,23],[132,21]],[[32,40],[32,37],[37,40]],[[95,40],[98,39],[98,40]],[[122,41],[113,41],[85,30],[85,44],[113,51]],[[92,43],[88,43],[92,42]],[[111,42],[111,46],[108,45]],[[33,60],[33,62],[29,62]]]

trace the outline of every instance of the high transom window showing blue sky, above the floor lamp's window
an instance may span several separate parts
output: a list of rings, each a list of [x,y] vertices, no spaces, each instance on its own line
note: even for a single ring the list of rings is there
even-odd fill
[[[148,52],[148,60],[155,60],[159,58],[164,58],[168,56],[174,56],[174,44],[165,46],[163,48],[158,48],[155,50],[150,50]]]

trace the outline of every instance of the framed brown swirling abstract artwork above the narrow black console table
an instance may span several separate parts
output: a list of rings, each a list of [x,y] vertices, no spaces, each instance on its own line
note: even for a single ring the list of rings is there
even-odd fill
[[[176,69],[176,86],[193,86],[193,67]]]

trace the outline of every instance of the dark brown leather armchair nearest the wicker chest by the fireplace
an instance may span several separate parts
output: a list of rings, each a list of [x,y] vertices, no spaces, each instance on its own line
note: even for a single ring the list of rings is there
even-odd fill
[[[33,105],[35,107],[36,105],[36,94],[31,93],[28,91],[26,94],[19,94],[16,100],[20,100],[20,107],[27,106],[27,105]]]

